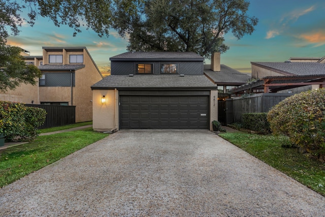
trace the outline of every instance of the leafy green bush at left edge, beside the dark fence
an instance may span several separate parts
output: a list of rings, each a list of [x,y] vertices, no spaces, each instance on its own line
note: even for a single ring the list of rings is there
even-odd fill
[[[26,141],[35,138],[46,117],[41,108],[26,107],[22,103],[0,101],[0,133],[7,141]]]

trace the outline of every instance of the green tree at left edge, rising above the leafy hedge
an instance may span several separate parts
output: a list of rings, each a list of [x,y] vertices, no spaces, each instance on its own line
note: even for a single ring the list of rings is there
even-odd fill
[[[21,48],[0,42],[0,90],[15,89],[19,84],[35,85],[41,71],[34,65],[26,65],[20,55]]]

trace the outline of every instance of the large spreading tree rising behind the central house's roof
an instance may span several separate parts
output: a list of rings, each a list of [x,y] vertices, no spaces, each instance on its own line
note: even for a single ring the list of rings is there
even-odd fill
[[[229,49],[224,44],[226,33],[239,40],[251,34],[258,22],[247,15],[245,0],[128,2],[121,1],[114,12],[114,28],[129,35],[128,50],[192,51],[209,58],[215,51]]]

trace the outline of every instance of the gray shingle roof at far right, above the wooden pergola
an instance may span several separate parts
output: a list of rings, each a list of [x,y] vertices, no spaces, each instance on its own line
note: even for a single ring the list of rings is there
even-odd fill
[[[252,65],[272,69],[284,75],[323,75],[325,64],[320,63],[283,63],[283,62],[251,62]]]

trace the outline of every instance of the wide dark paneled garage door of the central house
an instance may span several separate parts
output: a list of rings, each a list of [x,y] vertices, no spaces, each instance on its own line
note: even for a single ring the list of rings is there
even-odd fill
[[[208,96],[120,96],[120,129],[208,128]]]

